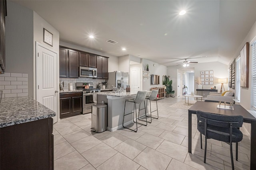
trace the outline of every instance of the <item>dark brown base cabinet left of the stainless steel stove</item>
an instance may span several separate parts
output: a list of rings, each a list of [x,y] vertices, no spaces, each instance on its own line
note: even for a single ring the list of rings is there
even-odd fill
[[[82,95],[82,92],[60,94],[60,119],[82,113]]]

